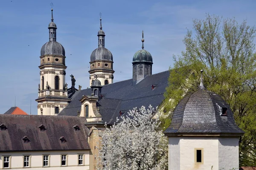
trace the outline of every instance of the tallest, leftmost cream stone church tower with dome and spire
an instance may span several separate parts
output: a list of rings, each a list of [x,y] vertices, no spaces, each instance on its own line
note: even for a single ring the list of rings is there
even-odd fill
[[[51,9],[53,11],[53,9]],[[49,23],[49,41],[41,48],[40,83],[38,85],[38,115],[57,115],[70,101],[65,84],[65,50],[56,41],[56,24]]]

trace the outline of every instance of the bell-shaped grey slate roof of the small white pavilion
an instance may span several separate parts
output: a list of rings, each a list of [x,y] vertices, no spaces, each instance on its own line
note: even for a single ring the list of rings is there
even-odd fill
[[[216,103],[227,108],[227,116],[220,115]],[[230,106],[221,96],[199,88],[178,103],[172,123],[164,133],[167,136],[179,133],[236,133],[241,136],[244,131],[236,125]]]

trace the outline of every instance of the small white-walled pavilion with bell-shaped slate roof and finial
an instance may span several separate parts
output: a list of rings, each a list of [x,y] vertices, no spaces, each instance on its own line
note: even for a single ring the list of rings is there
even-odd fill
[[[239,168],[239,137],[230,106],[201,84],[176,106],[169,137],[169,170],[230,170]]]

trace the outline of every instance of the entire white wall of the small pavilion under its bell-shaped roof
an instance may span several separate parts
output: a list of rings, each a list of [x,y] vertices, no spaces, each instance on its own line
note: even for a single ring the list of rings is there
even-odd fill
[[[196,150],[202,161],[196,161]],[[236,137],[169,137],[169,170],[230,170],[239,168]]]

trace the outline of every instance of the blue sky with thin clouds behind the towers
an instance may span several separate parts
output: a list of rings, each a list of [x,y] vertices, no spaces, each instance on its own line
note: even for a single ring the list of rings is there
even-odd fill
[[[40,50],[48,39],[53,3],[57,41],[66,51],[68,87],[70,74],[76,87],[89,87],[89,60],[97,48],[99,12],[105,47],[113,54],[114,82],[132,77],[132,57],[144,46],[153,57],[153,74],[172,66],[173,54],[184,50],[186,28],[206,13],[256,23],[253,0],[0,0],[0,113],[15,105],[37,114]],[[72,55],[70,55],[72,54]]]

